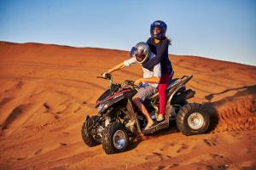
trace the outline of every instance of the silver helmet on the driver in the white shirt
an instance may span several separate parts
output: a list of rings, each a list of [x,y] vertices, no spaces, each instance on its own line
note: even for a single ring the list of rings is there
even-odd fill
[[[138,42],[135,47],[131,48],[131,57],[135,57],[139,64],[143,64],[150,54],[150,48],[146,42]]]

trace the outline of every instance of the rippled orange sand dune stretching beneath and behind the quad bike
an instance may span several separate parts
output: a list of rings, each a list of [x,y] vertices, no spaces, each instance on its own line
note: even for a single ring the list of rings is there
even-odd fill
[[[82,122],[108,88],[96,76],[128,58],[121,50],[0,42],[0,169],[256,168],[256,66],[196,56],[170,59],[174,77],[194,75],[189,102],[207,105],[209,133],[186,137],[173,124],[113,156],[84,145]],[[113,76],[141,73],[134,65]]]

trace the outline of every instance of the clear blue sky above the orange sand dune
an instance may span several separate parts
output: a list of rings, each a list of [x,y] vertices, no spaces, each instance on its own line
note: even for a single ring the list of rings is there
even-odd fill
[[[164,20],[170,54],[256,65],[254,0],[0,0],[0,40],[129,50]]]

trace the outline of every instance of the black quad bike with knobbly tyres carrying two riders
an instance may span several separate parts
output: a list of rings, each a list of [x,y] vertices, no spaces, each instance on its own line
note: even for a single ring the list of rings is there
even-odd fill
[[[88,146],[102,144],[107,154],[113,154],[126,150],[131,137],[144,133],[143,127],[147,125],[147,120],[132,103],[132,97],[138,90],[132,81],[113,83],[111,74],[99,78],[107,79],[110,87],[96,100],[97,115],[86,116],[81,130],[82,138]],[[210,123],[207,110],[201,104],[187,102],[187,99],[195,95],[195,91],[185,88],[191,78],[183,76],[169,82],[166,89],[165,121],[147,130],[147,134],[169,127],[171,120],[177,122],[178,129],[184,135],[207,132]],[[159,106],[158,93],[147,99],[144,105],[155,120]]]

